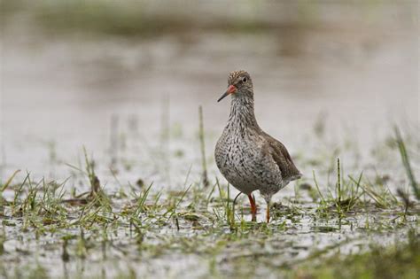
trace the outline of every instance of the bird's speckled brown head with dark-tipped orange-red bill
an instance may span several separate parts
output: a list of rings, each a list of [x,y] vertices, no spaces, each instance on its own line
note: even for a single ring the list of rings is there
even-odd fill
[[[234,71],[230,73],[228,89],[217,102],[222,101],[228,95],[232,95],[233,97],[253,97],[253,81],[250,75],[245,71]]]

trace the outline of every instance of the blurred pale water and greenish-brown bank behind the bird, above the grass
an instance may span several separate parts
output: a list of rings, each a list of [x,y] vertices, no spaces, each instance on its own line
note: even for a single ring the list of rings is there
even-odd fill
[[[394,124],[419,128],[417,1],[0,3],[2,179],[64,179],[84,145],[124,180],[183,180],[200,167],[199,105],[214,176],[216,100],[238,69],[294,157],[320,134],[369,157]]]

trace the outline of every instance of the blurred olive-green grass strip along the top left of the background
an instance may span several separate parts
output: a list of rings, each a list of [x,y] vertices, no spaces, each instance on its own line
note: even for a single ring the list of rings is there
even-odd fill
[[[159,12],[144,2],[117,4],[89,0],[60,4],[54,1],[33,3],[17,0],[13,3],[2,1],[2,10],[4,16],[26,11],[29,14],[28,18],[32,19],[36,26],[55,35],[75,32],[85,35],[147,38],[199,28],[255,32],[270,27],[262,20],[225,20],[224,24],[215,22],[208,25],[205,20],[197,20],[191,13],[176,12],[176,6],[170,5],[169,9]],[[191,24],[191,20],[195,20],[196,24]]]

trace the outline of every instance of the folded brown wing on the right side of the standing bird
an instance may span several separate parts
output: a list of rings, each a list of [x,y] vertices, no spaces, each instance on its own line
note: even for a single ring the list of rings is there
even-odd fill
[[[282,172],[284,180],[296,180],[299,179],[302,174],[300,174],[299,169],[294,166],[292,157],[283,145],[277,141],[274,137],[269,136],[266,133],[262,133],[262,136],[267,140],[269,149],[271,150],[271,156],[276,161],[277,166]]]

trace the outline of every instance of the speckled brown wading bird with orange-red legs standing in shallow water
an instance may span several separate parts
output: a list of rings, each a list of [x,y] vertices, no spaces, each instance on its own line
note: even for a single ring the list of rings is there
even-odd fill
[[[302,174],[284,144],[258,125],[250,74],[242,70],[231,72],[228,89],[217,102],[227,96],[231,96],[229,120],[215,145],[214,159],[229,184],[248,196],[252,221],[256,221],[257,214],[253,191],[260,190],[267,203],[268,223],[273,195]]]

